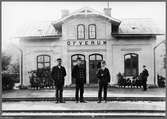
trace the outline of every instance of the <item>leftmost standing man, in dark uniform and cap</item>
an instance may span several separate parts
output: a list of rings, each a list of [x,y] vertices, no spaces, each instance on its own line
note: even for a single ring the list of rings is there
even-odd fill
[[[55,82],[55,88],[56,88],[56,103],[65,103],[63,101],[63,87],[64,87],[64,77],[66,76],[66,70],[61,65],[62,59],[57,59],[57,66],[54,66],[52,68],[52,78]]]

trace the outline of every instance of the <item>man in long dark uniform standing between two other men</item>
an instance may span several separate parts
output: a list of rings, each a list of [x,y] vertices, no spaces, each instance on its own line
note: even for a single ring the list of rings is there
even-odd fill
[[[81,103],[86,103],[83,97],[84,93],[84,83],[86,81],[86,71],[85,68],[81,65],[81,58],[77,58],[77,65],[74,66],[72,70],[72,77],[75,79],[76,84],[76,92],[75,92],[75,100],[76,103],[80,101]],[[80,99],[79,99],[79,91],[80,91]]]

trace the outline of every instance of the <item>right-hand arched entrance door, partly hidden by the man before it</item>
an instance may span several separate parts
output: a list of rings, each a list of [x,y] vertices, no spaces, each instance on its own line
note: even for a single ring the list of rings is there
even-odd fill
[[[89,55],[89,83],[97,84],[98,80],[96,78],[96,73],[98,68],[100,68],[100,63],[103,60],[103,55],[92,54]]]

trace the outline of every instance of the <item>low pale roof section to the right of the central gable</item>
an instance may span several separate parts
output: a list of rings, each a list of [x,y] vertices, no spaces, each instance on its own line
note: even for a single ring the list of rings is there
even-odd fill
[[[150,18],[121,19],[118,33],[112,35],[162,35],[164,32]]]

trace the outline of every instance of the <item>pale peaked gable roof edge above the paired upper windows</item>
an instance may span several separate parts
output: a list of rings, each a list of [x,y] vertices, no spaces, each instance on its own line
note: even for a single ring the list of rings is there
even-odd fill
[[[77,11],[71,13],[70,15],[68,15],[68,16],[66,16],[66,17],[63,17],[63,18],[61,18],[61,19],[59,19],[59,20],[53,22],[53,24],[54,24],[54,25],[56,25],[56,24],[62,24],[65,20],[67,20],[67,19],[69,19],[69,18],[71,18],[71,17],[73,17],[73,16],[76,16],[76,15],[85,15],[85,16],[86,16],[86,15],[97,15],[97,16],[102,16],[102,17],[108,19],[109,21],[111,21],[111,22],[113,22],[113,23],[116,23],[116,24],[118,24],[118,25],[121,23],[121,21],[118,20],[118,19],[115,19],[115,18],[113,18],[113,17],[107,16],[107,15],[105,15],[104,13],[98,12],[98,11],[92,9],[92,8],[84,7],[84,8],[82,8],[82,9],[79,9],[79,10],[77,10]]]

